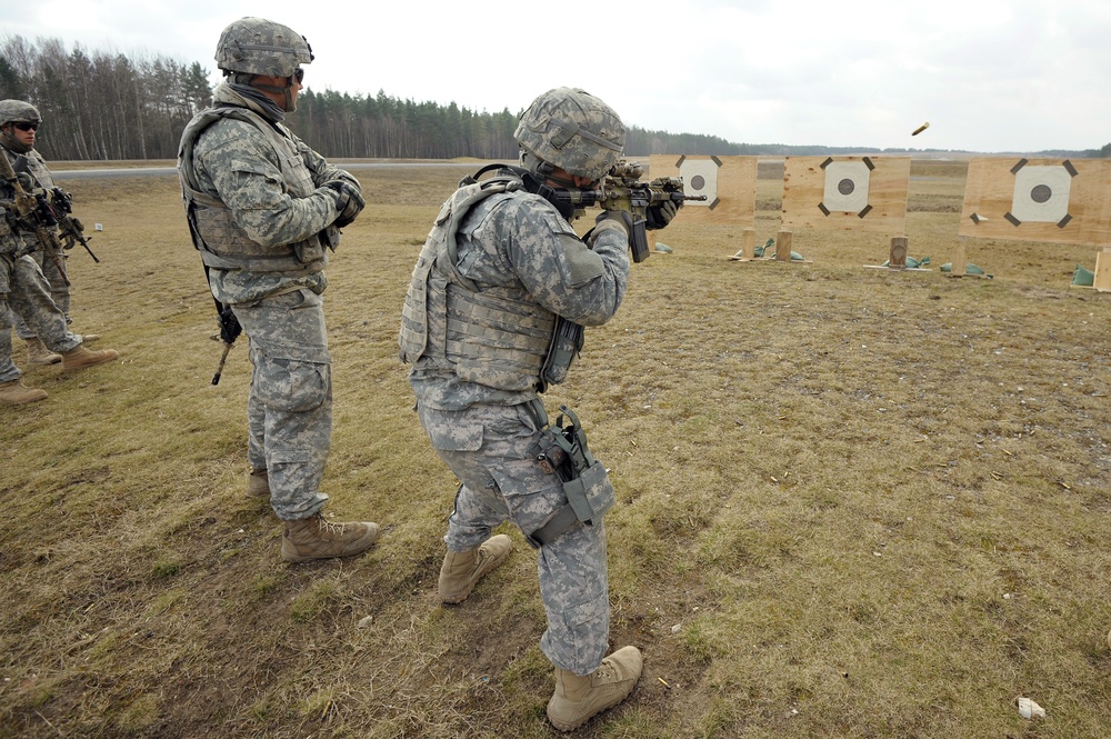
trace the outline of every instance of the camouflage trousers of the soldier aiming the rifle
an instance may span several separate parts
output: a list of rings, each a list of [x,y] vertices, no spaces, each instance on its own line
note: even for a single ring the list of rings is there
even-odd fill
[[[534,461],[541,429],[528,405],[461,411],[420,406],[418,412],[437,453],[462,483],[443,538],[451,551],[474,549],[506,520],[532,533],[567,506],[559,479]],[[541,547],[537,569],[548,612],[540,648],[561,669],[593,672],[605,656],[610,629],[602,523],[573,526]]]

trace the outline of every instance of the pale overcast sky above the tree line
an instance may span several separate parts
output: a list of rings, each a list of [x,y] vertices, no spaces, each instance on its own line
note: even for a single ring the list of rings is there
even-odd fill
[[[317,91],[517,113],[565,84],[628,124],[744,143],[1111,142],[1111,0],[36,0],[0,6],[0,38],[198,61],[216,82],[243,16],[308,38]]]

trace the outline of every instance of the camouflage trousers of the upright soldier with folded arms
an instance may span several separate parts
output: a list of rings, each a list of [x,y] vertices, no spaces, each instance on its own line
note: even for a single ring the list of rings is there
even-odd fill
[[[319,488],[332,440],[323,299],[298,290],[232,310],[251,339],[254,364],[247,401],[248,461],[267,470],[278,518],[309,518],[328,500]]]

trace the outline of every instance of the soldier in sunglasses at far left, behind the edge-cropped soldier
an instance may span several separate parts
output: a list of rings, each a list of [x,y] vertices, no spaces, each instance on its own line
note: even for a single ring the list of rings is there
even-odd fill
[[[42,118],[39,110],[29,102],[22,100],[0,100],[0,147],[16,156],[22,157],[20,164],[26,162],[26,173],[30,189],[37,194],[41,194],[48,207],[61,208],[68,212],[69,196],[54,187],[53,178],[42,156],[34,149],[34,139]],[[24,169],[24,167],[21,167]],[[64,202],[62,202],[64,199]],[[51,236],[57,237],[58,227],[50,224],[46,227]],[[66,323],[72,322],[70,318],[70,286],[66,271],[67,254],[58,250],[48,253],[47,244],[37,243],[34,231],[23,229],[23,241],[36,247],[31,252],[31,258],[39,264],[43,277],[50,283],[50,297],[54,304],[66,316]],[[18,314],[14,320],[16,333],[27,342],[27,361],[30,364],[54,364],[62,360],[61,356],[50,351],[36,336],[34,331]],[[96,341],[100,337],[96,333],[86,333],[82,337],[86,343]]]

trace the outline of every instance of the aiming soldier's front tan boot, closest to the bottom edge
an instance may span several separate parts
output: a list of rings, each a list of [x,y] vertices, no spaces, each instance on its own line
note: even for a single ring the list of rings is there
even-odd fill
[[[557,667],[556,692],[548,701],[548,720],[560,731],[578,729],[590,717],[628,698],[643,669],[644,659],[635,647],[622,647],[587,676]]]

